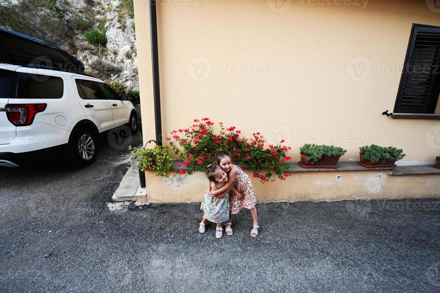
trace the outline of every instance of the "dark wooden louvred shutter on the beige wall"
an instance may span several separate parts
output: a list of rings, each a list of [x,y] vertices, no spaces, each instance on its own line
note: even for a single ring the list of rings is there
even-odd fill
[[[439,52],[440,27],[414,24],[394,112],[434,113],[440,91]]]

